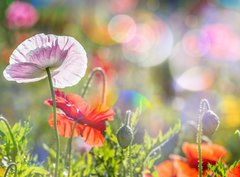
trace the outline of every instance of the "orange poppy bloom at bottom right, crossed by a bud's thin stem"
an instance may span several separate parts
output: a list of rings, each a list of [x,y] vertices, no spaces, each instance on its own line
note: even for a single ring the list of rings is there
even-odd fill
[[[171,160],[166,160],[155,167],[159,177],[198,177],[198,148],[197,144],[183,143],[183,152],[187,159],[171,155]],[[215,164],[220,158],[224,158],[227,151],[216,144],[201,144],[203,159],[203,176],[211,174],[207,170],[207,164]],[[236,176],[227,176],[236,177]]]

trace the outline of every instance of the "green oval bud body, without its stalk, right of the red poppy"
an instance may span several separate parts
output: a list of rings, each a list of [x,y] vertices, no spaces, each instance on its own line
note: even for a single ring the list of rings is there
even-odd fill
[[[121,126],[117,131],[118,143],[122,148],[127,148],[133,140],[133,131],[128,125]]]

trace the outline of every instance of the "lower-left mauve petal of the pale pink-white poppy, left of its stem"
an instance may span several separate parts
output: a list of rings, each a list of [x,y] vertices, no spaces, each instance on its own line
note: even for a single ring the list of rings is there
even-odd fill
[[[36,64],[27,62],[8,65],[3,75],[7,80],[18,83],[39,81],[47,77],[46,72]]]

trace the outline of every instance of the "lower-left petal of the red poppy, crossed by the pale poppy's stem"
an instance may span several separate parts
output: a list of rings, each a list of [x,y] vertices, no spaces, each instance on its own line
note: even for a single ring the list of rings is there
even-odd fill
[[[49,125],[54,128],[54,117],[53,113],[50,114],[49,120],[48,120]],[[57,127],[58,127],[58,134],[60,136],[70,138],[72,134],[72,129],[74,126],[74,121],[69,120],[64,114],[58,114],[57,113]],[[82,132],[83,126],[80,124],[76,125],[76,128],[74,130],[73,137],[79,136]]]

